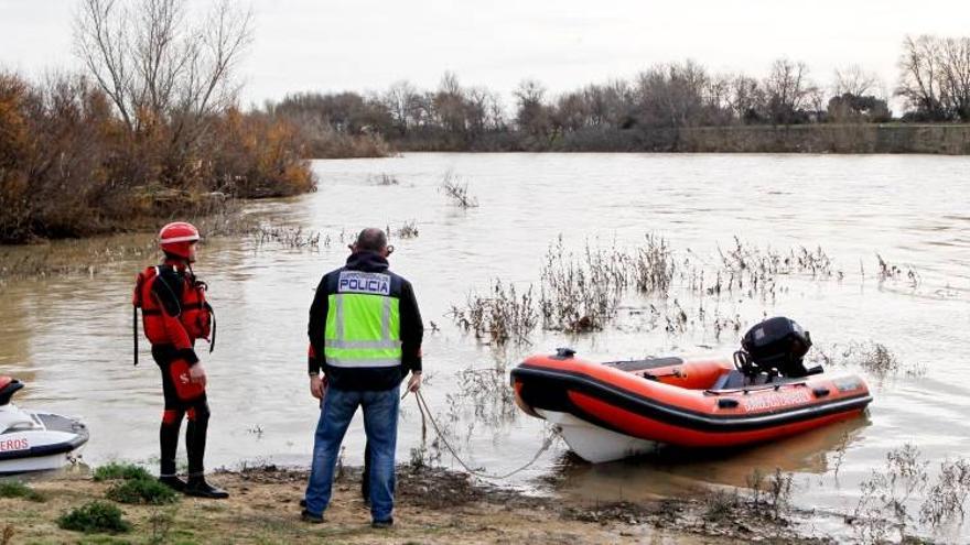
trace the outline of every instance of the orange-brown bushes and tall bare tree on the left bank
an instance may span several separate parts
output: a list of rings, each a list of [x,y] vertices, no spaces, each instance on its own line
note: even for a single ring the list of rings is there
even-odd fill
[[[251,13],[79,0],[84,70],[0,70],[0,242],[77,237],[312,190],[303,129],[238,107]]]

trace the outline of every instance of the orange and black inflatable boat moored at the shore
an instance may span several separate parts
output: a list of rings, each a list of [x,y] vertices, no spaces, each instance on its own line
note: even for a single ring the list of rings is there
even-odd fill
[[[511,384],[522,411],[556,424],[570,448],[592,462],[642,454],[658,443],[768,442],[858,416],[872,401],[865,382],[852,374],[748,371],[714,359],[595,363],[559,349],[526,359],[511,371]]]

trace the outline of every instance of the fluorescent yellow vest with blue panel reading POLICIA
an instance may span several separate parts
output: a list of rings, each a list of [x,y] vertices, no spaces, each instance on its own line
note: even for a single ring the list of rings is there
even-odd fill
[[[380,368],[401,364],[400,301],[384,273],[341,271],[327,296],[324,350],[327,364]]]

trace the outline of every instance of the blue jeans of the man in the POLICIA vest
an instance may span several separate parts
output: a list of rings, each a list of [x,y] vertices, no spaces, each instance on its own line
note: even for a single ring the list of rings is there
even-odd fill
[[[316,424],[306,511],[323,514],[330,504],[341,443],[357,406],[364,407],[364,430],[370,447],[370,516],[386,521],[394,514],[395,450],[398,440],[400,389],[355,391],[327,388]]]

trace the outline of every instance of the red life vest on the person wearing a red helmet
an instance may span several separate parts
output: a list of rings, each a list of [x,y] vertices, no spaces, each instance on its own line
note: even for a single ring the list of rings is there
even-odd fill
[[[182,286],[165,287],[173,291],[175,299],[179,303],[179,313],[171,316],[162,307],[162,304],[152,293],[154,283],[159,279],[159,274],[164,269],[174,269],[180,272],[175,265],[161,264],[149,266],[138,274],[134,284],[134,293],[132,294],[131,304],[133,305],[133,335],[134,335],[134,364],[138,364],[138,309],[141,308],[142,328],[144,336],[152,345],[180,344],[181,331],[172,329],[179,328],[184,330],[185,336],[182,342],[190,345],[196,339],[205,339],[209,342],[209,351],[215,348],[215,313],[212,306],[205,299],[206,284],[198,281],[190,272],[182,270],[180,277]],[[181,288],[181,290],[180,290]],[[181,293],[179,293],[181,292]],[[212,337],[209,337],[212,335]],[[179,347],[186,348],[186,347]]]

